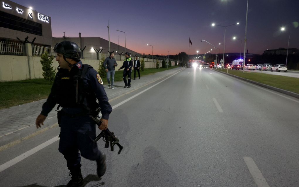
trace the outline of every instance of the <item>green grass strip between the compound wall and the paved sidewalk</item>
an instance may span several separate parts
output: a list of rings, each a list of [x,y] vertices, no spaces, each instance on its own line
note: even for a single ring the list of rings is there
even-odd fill
[[[168,67],[168,69],[177,68],[179,66]],[[140,76],[151,75],[157,72],[168,70],[167,68],[148,68],[140,72]],[[138,73],[136,72],[136,76]],[[115,72],[115,82],[123,81],[123,71]],[[134,70],[132,70],[134,78]],[[106,77],[103,78],[103,83],[107,84]],[[9,108],[25,103],[38,101],[48,98],[51,91],[52,83],[45,79],[31,79],[11,82],[0,82],[0,109]]]

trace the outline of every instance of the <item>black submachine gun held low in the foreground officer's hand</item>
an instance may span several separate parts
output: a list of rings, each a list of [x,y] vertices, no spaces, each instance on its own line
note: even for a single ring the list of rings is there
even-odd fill
[[[96,115],[96,117],[93,117],[92,115],[90,115],[90,117],[95,121],[97,126],[100,127],[102,121],[100,121],[100,119],[98,118],[99,116]],[[116,144],[119,147],[118,154],[120,154],[120,151],[123,149],[123,146],[121,146],[118,143],[119,139],[114,135],[113,132],[110,132],[108,128],[106,130],[102,130],[102,132],[99,135],[97,135],[97,137],[93,140],[93,142],[97,142],[102,137],[103,140],[105,141],[105,148],[109,148],[109,143],[110,143],[111,151],[113,151],[114,150],[113,146]]]

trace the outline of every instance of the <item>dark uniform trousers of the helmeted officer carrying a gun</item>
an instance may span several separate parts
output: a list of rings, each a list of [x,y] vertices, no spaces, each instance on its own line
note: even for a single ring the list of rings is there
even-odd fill
[[[61,116],[59,152],[66,159],[68,169],[80,168],[81,155],[89,160],[97,160],[101,152],[97,143],[96,124],[88,115]],[[79,153],[80,150],[80,153]]]

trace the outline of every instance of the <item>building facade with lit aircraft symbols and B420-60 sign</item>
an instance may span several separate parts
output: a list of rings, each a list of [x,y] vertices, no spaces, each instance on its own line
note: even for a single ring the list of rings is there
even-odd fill
[[[1,1],[0,39],[24,42],[25,38],[52,45],[51,17],[9,0]]]

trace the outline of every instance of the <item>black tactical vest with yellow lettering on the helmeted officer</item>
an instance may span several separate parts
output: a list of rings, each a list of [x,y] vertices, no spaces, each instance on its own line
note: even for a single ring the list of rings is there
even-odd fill
[[[83,82],[83,77],[91,68],[88,64],[83,64],[75,75],[71,75],[68,70],[59,69],[56,75],[59,107],[82,108],[86,113],[99,107],[95,93]]]

